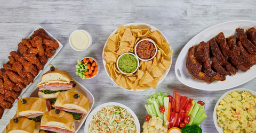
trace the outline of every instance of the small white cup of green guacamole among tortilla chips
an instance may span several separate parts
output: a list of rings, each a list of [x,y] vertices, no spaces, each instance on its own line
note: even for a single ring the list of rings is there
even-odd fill
[[[116,66],[122,74],[133,74],[139,68],[139,59],[131,52],[126,52],[118,57]]]

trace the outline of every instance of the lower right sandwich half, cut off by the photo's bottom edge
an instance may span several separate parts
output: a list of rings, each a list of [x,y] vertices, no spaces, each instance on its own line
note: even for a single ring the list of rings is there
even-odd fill
[[[44,114],[40,128],[51,132],[75,132],[75,121],[73,116],[63,110],[51,110],[49,114]]]

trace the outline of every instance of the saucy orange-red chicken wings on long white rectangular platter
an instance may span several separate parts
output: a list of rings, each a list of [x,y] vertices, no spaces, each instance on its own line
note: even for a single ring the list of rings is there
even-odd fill
[[[0,119],[62,47],[38,25],[28,38],[21,40],[17,51],[10,52],[9,60],[0,71]]]

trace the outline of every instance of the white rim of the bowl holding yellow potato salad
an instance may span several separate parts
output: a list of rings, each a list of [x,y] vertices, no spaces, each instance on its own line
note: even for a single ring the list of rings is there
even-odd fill
[[[219,131],[219,132],[224,132],[223,128],[220,127],[217,123],[217,106],[219,105],[220,103],[220,100],[224,99],[225,96],[227,96],[230,92],[233,92],[233,91],[236,91],[237,93],[241,93],[243,91],[249,91],[252,96],[256,97],[256,92],[252,91],[252,90],[249,90],[249,89],[246,89],[246,88],[236,88],[234,90],[231,90],[231,91],[228,91],[227,93],[223,94],[220,99],[217,101],[215,107],[214,107],[214,111],[213,111],[213,122],[214,122],[214,125],[216,127],[216,129]]]

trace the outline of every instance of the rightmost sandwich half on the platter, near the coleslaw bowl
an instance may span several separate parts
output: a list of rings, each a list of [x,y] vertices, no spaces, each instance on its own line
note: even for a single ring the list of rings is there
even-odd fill
[[[74,91],[59,93],[54,103],[55,109],[64,110],[72,114],[74,119],[78,122],[82,119],[84,114],[89,112],[89,105],[89,99],[83,94]]]

